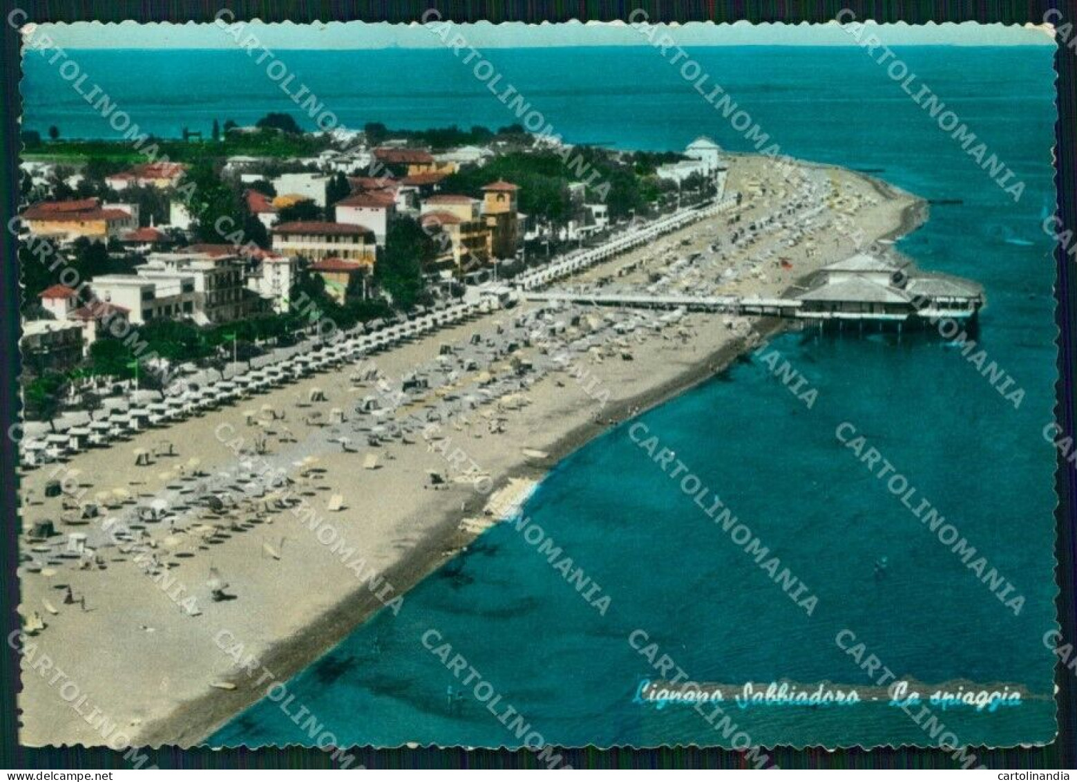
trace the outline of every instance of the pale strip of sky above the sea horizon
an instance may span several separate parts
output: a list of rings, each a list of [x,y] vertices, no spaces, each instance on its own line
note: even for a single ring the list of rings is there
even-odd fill
[[[937,25],[876,25],[871,32],[887,45],[1053,45],[1053,28],[1048,25],[981,25],[975,22]],[[646,45],[647,39],[620,22],[526,25],[492,25],[479,22],[453,25],[475,49],[575,45]],[[760,24],[749,22],[715,25],[693,22],[659,25],[679,45],[856,45],[856,40],[836,23],[809,25]],[[28,29],[29,28],[29,29]],[[270,50],[295,49],[429,49],[443,46],[442,39],[418,23],[409,25],[363,22],[331,22],[310,25],[236,23],[232,32],[224,25],[145,24],[98,22],[27,25],[24,35],[47,33],[62,49],[233,49],[236,35],[253,33],[260,45]]]

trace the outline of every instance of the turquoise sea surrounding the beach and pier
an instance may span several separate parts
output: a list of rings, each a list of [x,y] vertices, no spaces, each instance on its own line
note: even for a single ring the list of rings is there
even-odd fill
[[[746,142],[654,50],[487,53],[504,79],[570,141],[681,149],[700,134]],[[1019,203],[990,180],[866,54],[843,49],[731,47],[691,52],[791,155],[854,168],[927,198],[927,223],[900,243],[925,269],[987,288],[979,338],[1024,389],[1019,409],[962,354],[906,335],[774,341],[819,389],[807,410],[758,358],[653,410],[642,421],[719,494],[811,590],[809,618],[630,439],[623,425],[564,459],[526,512],[612,603],[605,616],[510,525],[411,591],[288,683],[295,703],[342,743],[518,745],[420,639],[439,631],[550,743],[728,744],[687,708],[633,702],[653,669],[628,643],[645,630],[699,681],[788,678],[864,687],[835,644],[851,629],[898,675],[925,683],[1021,684],[1045,696],[994,713],[938,712],[970,744],[1045,742],[1054,625],[1055,328],[1052,243],[1053,50],[898,50],[1025,183]],[[295,111],[263,69],[237,52],[78,52],[86,72],[159,135],[208,131]],[[290,52],[286,61],[346,123],[390,127],[516,121],[445,51]],[[26,64],[26,125],[67,137],[110,128],[51,67]],[[298,113],[295,111],[295,113]],[[835,437],[854,422],[919,494],[955,524],[1025,598],[1019,616],[858,465]],[[885,578],[873,577],[885,555]],[[295,585],[302,589],[302,585]],[[883,704],[728,711],[763,744],[929,744]],[[296,709],[293,706],[293,713]],[[262,701],[213,745],[309,742],[276,702]]]

